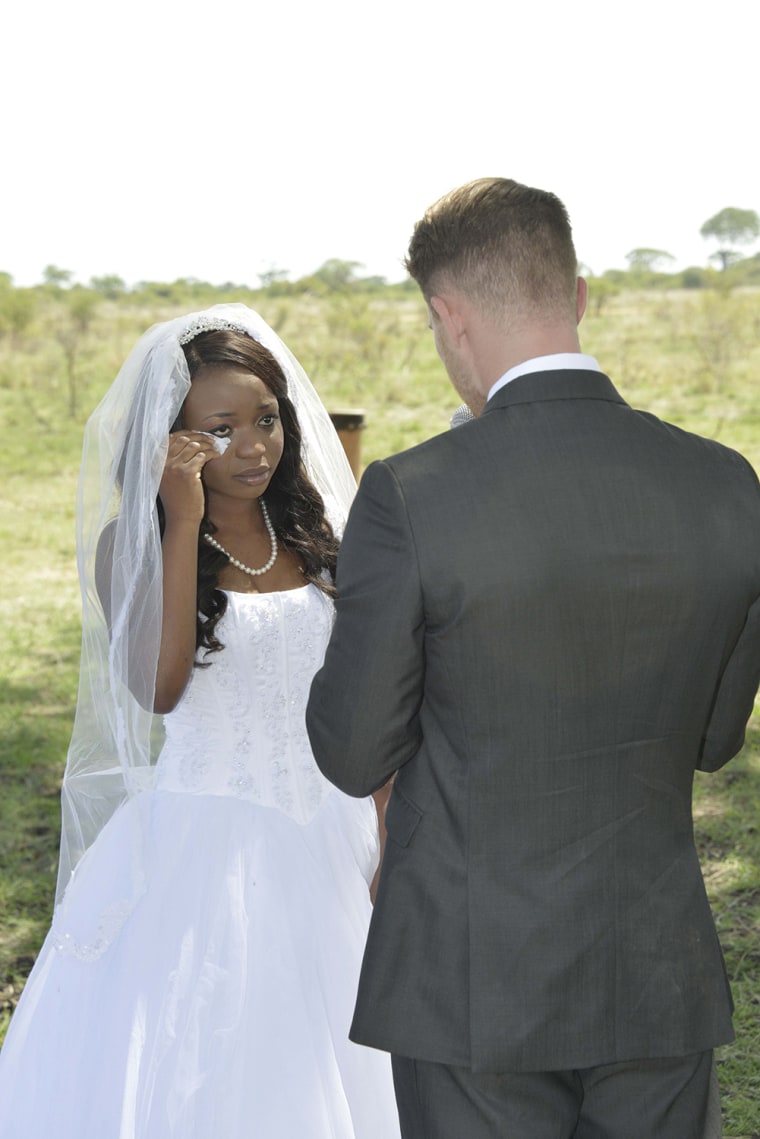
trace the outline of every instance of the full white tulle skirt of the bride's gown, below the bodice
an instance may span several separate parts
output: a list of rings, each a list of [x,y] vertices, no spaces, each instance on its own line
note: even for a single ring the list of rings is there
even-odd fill
[[[300,826],[231,797],[148,793],[80,863],[71,927],[131,872],[136,810],[140,895],[87,952],[54,926],[0,1055],[0,1137],[398,1137],[387,1056],[348,1040],[371,802],[336,792]]]

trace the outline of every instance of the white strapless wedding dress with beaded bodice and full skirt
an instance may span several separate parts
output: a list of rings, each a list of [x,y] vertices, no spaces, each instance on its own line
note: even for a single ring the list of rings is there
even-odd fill
[[[348,1040],[378,857],[304,708],[313,585],[229,593],[155,785],[80,862],[0,1055],[0,1139],[395,1139],[389,1057]]]

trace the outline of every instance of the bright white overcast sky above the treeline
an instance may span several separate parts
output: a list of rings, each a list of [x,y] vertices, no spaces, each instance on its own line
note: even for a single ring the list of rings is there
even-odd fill
[[[554,190],[594,272],[760,212],[750,0],[11,0],[0,270],[255,286],[327,259],[400,280],[483,174]],[[757,246],[749,247],[753,252]]]

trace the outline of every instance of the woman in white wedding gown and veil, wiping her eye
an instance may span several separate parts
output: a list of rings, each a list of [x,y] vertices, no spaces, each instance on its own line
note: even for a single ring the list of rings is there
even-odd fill
[[[389,1058],[348,1040],[377,812],[304,727],[353,489],[243,305],[154,326],[91,417],[59,895],[5,1139],[398,1136]]]

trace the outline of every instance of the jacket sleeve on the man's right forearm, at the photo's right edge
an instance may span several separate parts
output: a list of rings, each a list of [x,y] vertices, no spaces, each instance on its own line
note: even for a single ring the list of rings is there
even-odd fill
[[[744,746],[760,683],[760,598],[751,606],[734,652],[724,669],[702,739],[701,771],[717,771]]]

